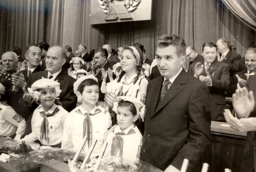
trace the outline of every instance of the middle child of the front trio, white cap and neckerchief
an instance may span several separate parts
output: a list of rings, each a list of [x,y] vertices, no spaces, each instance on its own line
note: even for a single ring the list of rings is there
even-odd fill
[[[110,114],[101,106],[96,106],[99,99],[98,79],[93,75],[80,77],[74,83],[74,93],[82,105],[71,111],[65,120],[62,148],[77,151],[86,136],[88,139],[83,151],[87,154],[96,139],[91,157],[97,157],[103,146],[104,134],[112,126]]]

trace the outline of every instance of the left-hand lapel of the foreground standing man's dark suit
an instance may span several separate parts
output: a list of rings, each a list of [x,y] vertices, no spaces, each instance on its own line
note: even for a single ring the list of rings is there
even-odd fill
[[[153,84],[153,87],[152,87],[153,90],[150,91],[150,93],[152,93],[150,94],[151,97],[147,98],[151,101],[149,103],[151,105],[151,116],[154,115],[154,111],[157,108],[157,103],[159,101],[162,86],[163,86],[163,76],[156,78],[155,83]]]

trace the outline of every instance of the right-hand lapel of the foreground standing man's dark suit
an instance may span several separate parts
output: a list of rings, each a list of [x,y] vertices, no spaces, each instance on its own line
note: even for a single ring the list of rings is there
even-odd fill
[[[171,87],[163,97],[163,100],[158,103],[157,109],[154,111],[153,116],[160,111],[164,106],[166,106],[177,94],[179,94],[180,91],[182,91],[182,86],[180,84],[185,84],[187,80],[187,73],[184,69],[180,72],[180,74],[177,76],[177,78],[172,83]],[[161,82],[163,84],[163,82]],[[159,91],[161,92],[161,90]],[[160,93],[159,93],[160,96]],[[158,97],[159,97],[158,96]]]

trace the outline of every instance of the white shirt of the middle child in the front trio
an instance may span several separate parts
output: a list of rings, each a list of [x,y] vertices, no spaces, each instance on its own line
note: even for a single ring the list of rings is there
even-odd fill
[[[69,149],[73,151],[77,151],[81,142],[83,141],[83,121],[85,119],[85,113],[95,113],[96,109],[100,109],[101,112],[96,115],[91,115],[92,121],[92,138],[97,140],[96,146],[93,149],[93,153],[91,157],[99,156],[99,153],[103,146],[104,134],[107,132],[108,128],[112,126],[111,116],[110,114],[103,109],[101,106],[95,106],[93,110],[87,112],[83,109],[82,106],[76,107],[73,111],[71,111],[64,124],[63,136],[62,136],[62,149]],[[77,112],[80,110],[82,114]],[[88,140],[87,140],[88,141]],[[87,154],[88,152],[88,142],[86,141],[83,151]]]

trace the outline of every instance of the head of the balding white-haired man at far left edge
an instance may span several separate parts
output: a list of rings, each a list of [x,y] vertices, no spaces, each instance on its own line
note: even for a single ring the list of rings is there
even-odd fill
[[[7,74],[15,72],[18,65],[18,55],[15,52],[7,51],[2,55],[3,69]]]

